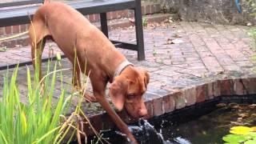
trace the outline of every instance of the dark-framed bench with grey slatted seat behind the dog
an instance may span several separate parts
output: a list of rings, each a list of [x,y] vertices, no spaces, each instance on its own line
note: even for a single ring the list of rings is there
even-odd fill
[[[42,5],[43,1],[44,0],[23,0],[21,2],[0,3],[0,27],[30,23],[29,14],[33,16],[34,12],[38,9],[38,6]],[[107,12],[115,10],[134,10],[137,43],[111,42],[113,42],[115,46],[123,49],[136,50],[138,52],[138,60],[145,59],[141,0],[80,0],[67,2],[67,4],[84,15],[100,14],[101,29],[106,37],[108,37]],[[28,64],[28,62],[26,62],[26,64]],[[20,66],[22,65],[25,64],[20,64]]]

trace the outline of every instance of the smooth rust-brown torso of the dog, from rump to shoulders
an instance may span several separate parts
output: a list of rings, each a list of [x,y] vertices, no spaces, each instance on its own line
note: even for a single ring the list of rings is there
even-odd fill
[[[62,2],[47,2],[40,6],[34,14],[33,22],[37,30],[42,30],[37,33],[43,34],[37,36],[38,39],[50,36],[71,62],[74,61],[74,48],[82,66],[86,62],[87,65],[94,63],[94,66],[104,67],[117,59],[120,62],[126,59],[101,30]],[[42,24],[45,26],[38,26]],[[87,68],[93,70],[93,67]]]

